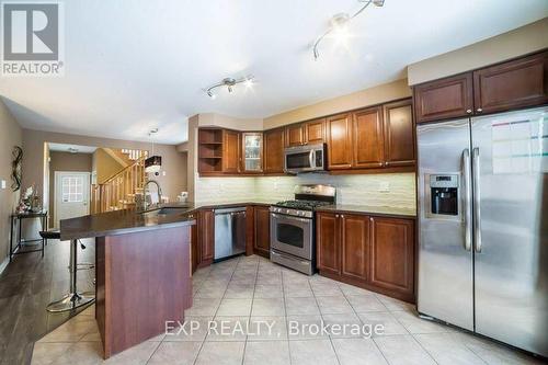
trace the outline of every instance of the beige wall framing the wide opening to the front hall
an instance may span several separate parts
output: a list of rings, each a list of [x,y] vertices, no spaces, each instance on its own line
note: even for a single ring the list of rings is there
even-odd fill
[[[26,160],[23,160],[23,186],[36,183],[41,192],[44,189],[42,171],[44,167],[43,150],[45,142],[106,148],[151,149],[151,144],[147,142],[23,129],[23,147],[27,157]],[[163,194],[169,196],[170,201],[173,202],[182,191],[186,191],[186,156],[179,152],[174,145],[157,144],[155,145],[155,152],[162,157],[162,171],[159,176],[152,175],[150,178],[158,180],[162,186]],[[163,172],[165,172],[165,176],[162,175]]]

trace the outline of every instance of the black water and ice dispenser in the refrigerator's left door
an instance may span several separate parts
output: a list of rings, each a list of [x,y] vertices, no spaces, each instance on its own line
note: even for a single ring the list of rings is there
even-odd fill
[[[458,174],[430,175],[430,215],[458,216]]]

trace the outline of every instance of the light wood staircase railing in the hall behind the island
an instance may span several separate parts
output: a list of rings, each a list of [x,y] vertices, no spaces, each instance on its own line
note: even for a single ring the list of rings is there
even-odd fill
[[[142,193],[147,181],[144,153],[134,163],[118,171],[102,184],[91,186],[91,213],[118,210],[135,206],[135,194]]]

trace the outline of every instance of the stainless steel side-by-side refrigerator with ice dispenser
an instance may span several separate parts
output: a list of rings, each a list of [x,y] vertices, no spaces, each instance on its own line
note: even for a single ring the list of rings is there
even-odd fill
[[[416,139],[419,311],[548,356],[548,107]]]

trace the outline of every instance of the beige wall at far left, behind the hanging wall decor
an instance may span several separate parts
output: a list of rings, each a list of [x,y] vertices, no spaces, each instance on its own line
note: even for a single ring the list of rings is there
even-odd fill
[[[11,162],[13,146],[22,146],[22,129],[2,100],[0,100],[0,180],[5,180],[5,189],[0,189],[0,264],[8,256],[10,247],[10,214],[15,210],[20,191],[11,190]],[[27,156],[23,155],[23,159]],[[42,173],[42,170],[38,172]]]

